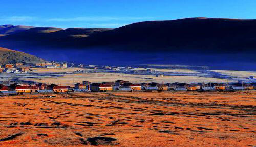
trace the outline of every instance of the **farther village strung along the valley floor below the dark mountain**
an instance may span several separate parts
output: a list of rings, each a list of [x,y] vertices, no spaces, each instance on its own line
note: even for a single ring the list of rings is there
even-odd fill
[[[86,64],[76,64],[72,62],[42,62],[42,63],[11,63],[11,64],[4,64],[0,65],[0,73],[10,74],[10,73],[27,73],[29,71],[33,71],[36,69],[66,69],[66,68],[82,68],[84,70],[77,70],[73,73],[86,73],[86,69],[95,70],[95,71],[115,71],[115,72],[131,72],[133,71],[134,74],[157,74],[159,77],[163,76],[162,73],[156,73],[151,68],[145,68],[146,66],[143,65],[136,65],[135,67],[132,66],[109,66],[109,65],[86,65]],[[198,69],[204,70],[205,67],[197,67],[197,66],[182,66],[176,65],[172,68],[179,68],[179,69]]]

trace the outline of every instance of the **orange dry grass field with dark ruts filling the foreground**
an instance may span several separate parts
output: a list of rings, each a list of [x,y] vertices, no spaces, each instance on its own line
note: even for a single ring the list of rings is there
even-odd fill
[[[0,99],[0,146],[255,146],[256,92]]]

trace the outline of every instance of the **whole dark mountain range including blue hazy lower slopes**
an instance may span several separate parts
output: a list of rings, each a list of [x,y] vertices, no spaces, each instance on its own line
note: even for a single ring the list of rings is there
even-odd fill
[[[253,69],[255,34],[254,19],[186,18],[138,22],[112,30],[31,28],[0,36],[0,45],[49,60]],[[87,60],[81,60],[84,57]]]

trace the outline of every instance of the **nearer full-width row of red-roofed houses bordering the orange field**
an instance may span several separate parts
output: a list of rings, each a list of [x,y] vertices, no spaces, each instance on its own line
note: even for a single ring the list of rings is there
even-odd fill
[[[240,84],[235,83],[228,85],[225,83],[166,83],[159,84],[155,82],[134,84],[129,81],[117,80],[115,82],[91,83],[83,81],[76,83],[74,87],[60,86],[56,84],[38,83],[34,85],[11,84],[5,86],[0,84],[0,95],[16,95],[16,94],[46,94],[46,93],[83,93],[83,92],[114,92],[114,91],[243,91],[255,90],[256,84]]]

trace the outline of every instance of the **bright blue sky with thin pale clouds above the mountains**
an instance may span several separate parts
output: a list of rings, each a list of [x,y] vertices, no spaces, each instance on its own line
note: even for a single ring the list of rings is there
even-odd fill
[[[117,28],[189,17],[256,19],[255,0],[0,0],[0,25]]]

